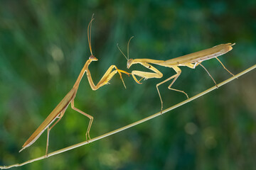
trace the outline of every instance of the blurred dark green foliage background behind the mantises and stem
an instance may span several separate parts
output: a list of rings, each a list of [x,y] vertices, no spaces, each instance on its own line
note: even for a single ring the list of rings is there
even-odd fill
[[[0,5],[0,165],[45,153],[46,132],[23,152],[23,143],[72,88],[90,56],[95,84],[111,64],[131,58],[169,60],[214,45],[236,42],[219,59],[237,74],[256,63],[256,1],[3,1]],[[217,60],[203,62],[217,83],[230,74]],[[116,75],[92,91],[85,76],[75,106],[93,115],[97,137],[160,110],[156,84]],[[146,69],[137,64],[129,69]],[[194,96],[214,86],[202,67],[181,67],[174,88]],[[174,111],[78,149],[21,169],[255,169],[255,70]],[[164,108],[186,96],[161,85]],[[70,108],[50,132],[49,152],[85,140],[88,118]],[[15,169],[15,168],[14,168]]]

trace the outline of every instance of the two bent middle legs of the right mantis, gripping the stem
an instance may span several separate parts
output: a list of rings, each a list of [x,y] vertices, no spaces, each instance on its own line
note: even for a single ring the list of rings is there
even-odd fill
[[[174,84],[174,82],[176,81],[176,79],[178,79],[179,75],[181,75],[181,69],[180,69],[180,68],[178,68],[178,67],[172,67],[172,68],[175,70],[175,72],[176,72],[177,74],[175,74],[175,75],[172,76],[172,77],[169,77],[168,79],[166,79],[166,80],[164,80],[164,81],[161,81],[159,84],[156,84],[156,89],[157,89],[157,92],[158,92],[158,94],[159,94],[159,98],[160,98],[160,101],[161,101],[161,113],[162,113],[162,111],[163,111],[163,101],[162,101],[162,99],[161,99],[161,94],[160,94],[160,91],[159,91],[158,86],[160,86],[161,84],[164,84],[166,81],[169,81],[169,80],[171,80],[171,79],[174,79],[173,81],[171,81],[171,84],[168,86],[168,89],[174,90],[174,91],[178,91],[178,92],[181,92],[181,93],[183,93],[183,94],[186,94],[184,91],[181,91],[181,90],[178,90],[178,89],[172,89],[172,88],[171,88],[171,86]],[[186,97],[188,98],[188,94],[186,94]]]

